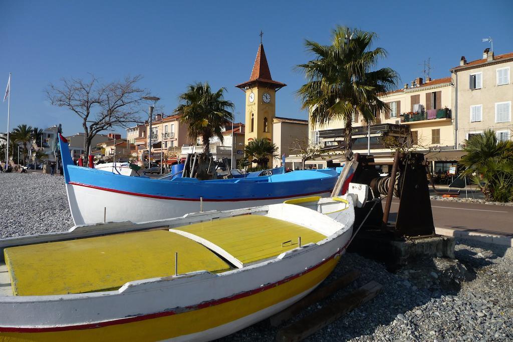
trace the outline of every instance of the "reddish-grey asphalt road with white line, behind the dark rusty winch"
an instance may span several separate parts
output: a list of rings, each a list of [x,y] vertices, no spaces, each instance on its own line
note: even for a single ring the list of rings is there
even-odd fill
[[[390,220],[396,219],[398,208],[399,199],[393,198]],[[435,227],[513,237],[513,207],[432,200],[431,209]]]

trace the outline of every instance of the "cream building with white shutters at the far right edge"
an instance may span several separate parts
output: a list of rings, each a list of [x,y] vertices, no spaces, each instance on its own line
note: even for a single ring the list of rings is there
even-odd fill
[[[455,148],[464,140],[493,129],[501,140],[511,139],[511,102],[513,102],[513,53],[494,55],[485,49],[481,59],[450,69],[455,98]]]

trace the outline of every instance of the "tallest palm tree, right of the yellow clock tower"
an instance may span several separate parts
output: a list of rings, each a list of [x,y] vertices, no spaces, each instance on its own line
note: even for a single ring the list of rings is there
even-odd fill
[[[386,57],[383,48],[370,49],[374,39],[376,33],[338,26],[332,32],[331,45],[306,40],[306,49],[315,59],[297,67],[307,78],[297,93],[303,109],[311,113],[311,123],[322,126],[333,119],[344,120],[347,159],[352,155],[353,117],[360,113],[370,124],[374,113],[388,109],[378,94],[393,90],[398,80],[390,68],[373,70],[379,59]]]

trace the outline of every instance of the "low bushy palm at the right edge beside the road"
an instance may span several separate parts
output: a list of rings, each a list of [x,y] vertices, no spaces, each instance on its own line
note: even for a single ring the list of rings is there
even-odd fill
[[[513,199],[513,142],[499,141],[493,130],[464,141],[460,165],[488,200],[509,202]]]

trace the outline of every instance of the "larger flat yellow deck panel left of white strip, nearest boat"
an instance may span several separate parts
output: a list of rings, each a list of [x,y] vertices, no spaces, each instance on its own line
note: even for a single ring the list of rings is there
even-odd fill
[[[213,252],[167,230],[98,236],[4,250],[14,295],[117,289],[127,281],[178,272],[228,270]]]

